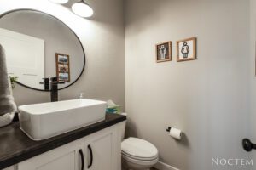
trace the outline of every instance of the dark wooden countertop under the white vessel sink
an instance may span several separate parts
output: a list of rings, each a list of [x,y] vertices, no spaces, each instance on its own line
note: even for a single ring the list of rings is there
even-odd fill
[[[81,139],[90,133],[96,133],[103,128],[126,120],[126,116],[106,114],[106,120],[87,127],[63,133],[50,139],[33,141],[20,130],[19,122],[0,128],[0,169],[38,156],[46,151],[53,150],[63,144]]]

